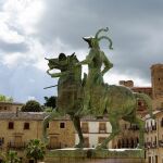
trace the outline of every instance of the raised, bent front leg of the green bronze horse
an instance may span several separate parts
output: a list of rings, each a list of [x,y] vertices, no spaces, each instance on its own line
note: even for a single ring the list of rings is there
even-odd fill
[[[48,139],[48,134],[47,134],[47,126],[49,124],[50,121],[52,121],[54,117],[60,116],[60,113],[57,112],[57,109],[53,109],[53,111],[43,118],[42,122],[42,140],[43,142],[48,143],[49,139]]]

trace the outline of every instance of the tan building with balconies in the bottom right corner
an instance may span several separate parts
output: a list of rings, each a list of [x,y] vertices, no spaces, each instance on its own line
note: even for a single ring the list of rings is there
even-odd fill
[[[145,116],[145,148],[147,163],[163,162],[163,111],[154,111],[155,120]]]

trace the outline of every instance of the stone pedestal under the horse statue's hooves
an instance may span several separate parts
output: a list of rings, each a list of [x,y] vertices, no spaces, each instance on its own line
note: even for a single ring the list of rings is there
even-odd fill
[[[59,149],[47,152],[46,163],[145,163],[145,151],[135,149]]]

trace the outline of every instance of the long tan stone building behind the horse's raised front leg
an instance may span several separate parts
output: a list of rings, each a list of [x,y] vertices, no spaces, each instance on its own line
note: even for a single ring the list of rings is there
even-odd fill
[[[25,145],[30,139],[42,138],[42,121],[47,116],[43,112],[1,112],[0,113],[0,149],[17,151],[22,163],[25,159]],[[54,118],[48,125],[50,142],[48,149],[73,147],[75,134],[68,117]],[[32,161],[30,161],[32,163]]]

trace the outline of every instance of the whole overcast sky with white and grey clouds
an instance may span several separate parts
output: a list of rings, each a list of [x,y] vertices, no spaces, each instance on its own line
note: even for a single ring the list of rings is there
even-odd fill
[[[46,58],[89,52],[84,36],[109,27],[114,50],[101,41],[114,67],[109,84],[133,79],[150,86],[150,66],[163,63],[162,0],[0,0],[0,93],[25,102],[57,95]],[[84,67],[86,70],[87,67]]]

